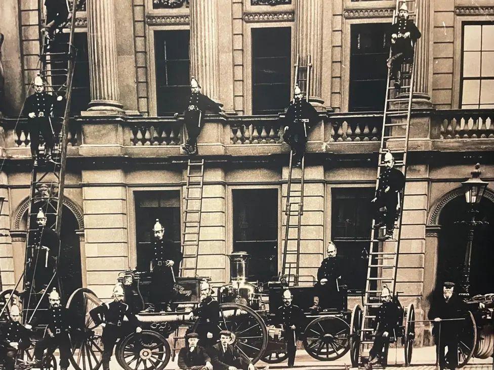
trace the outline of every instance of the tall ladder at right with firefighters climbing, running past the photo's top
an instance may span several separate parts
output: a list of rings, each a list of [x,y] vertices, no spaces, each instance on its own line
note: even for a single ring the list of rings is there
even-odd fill
[[[402,3],[403,0],[397,0],[393,21],[396,21],[398,6]],[[406,0],[406,4],[409,9],[411,8],[409,13],[410,18],[415,18],[415,21],[417,21],[415,0]],[[413,60],[408,63],[406,61],[403,62],[401,73],[402,85],[400,90],[395,90],[395,87],[391,84],[391,71],[388,69],[376,190],[378,188],[381,171],[385,167],[384,155],[387,151],[390,151],[393,154],[395,158],[394,167],[401,170],[406,179],[406,155],[408,150],[411,99],[414,86],[413,63]],[[395,232],[392,239],[384,242],[379,241],[378,236],[380,229],[374,228],[375,221],[372,223],[357,362],[359,362],[360,357],[363,356],[364,350],[368,350],[369,346],[372,346],[373,344],[374,322],[378,308],[381,305],[380,293],[383,285],[386,284],[393,294],[397,293],[396,279],[401,240],[404,192],[405,191],[403,190],[399,195],[399,211],[397,212],[397,221],[394,226]]]

